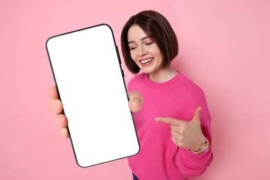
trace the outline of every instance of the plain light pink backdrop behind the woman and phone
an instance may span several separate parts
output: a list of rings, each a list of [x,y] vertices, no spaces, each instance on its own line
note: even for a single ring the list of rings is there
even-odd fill
[[[120,46],[125,21],[147,9],[171,22],[180,45],[173,66],[208,99],[215,158],[196,179],[270,179],[269,0],[1,0],[0,179],[132,179],[126,159],[76,165],[48,111],[54,82],[45,42],[107,23]]]

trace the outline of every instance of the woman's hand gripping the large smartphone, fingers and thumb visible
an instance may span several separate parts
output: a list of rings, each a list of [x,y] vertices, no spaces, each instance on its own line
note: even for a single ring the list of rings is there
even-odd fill
[[[130,91],[127,94],[129,96],[129,109],[134,113],[140,111],[143,105],[143,96],[141,93]],[[69,138],[69,131],[67,129],[68,120],[63,114],[62,102],[55,86],[49,89],[49,96],[51,100],[48,102],[48,108],[55,114],[55,124],[61,128],[62,136]]]

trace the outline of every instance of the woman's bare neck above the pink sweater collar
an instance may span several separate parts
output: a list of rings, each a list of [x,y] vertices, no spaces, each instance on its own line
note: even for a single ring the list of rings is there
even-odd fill
[[[171,80],[175,75],[177,75],[177,71],[169,66],[166,69],[160,69],[159,71],[149,73],[148,78],[152,80],[152,82],[162,83]]]

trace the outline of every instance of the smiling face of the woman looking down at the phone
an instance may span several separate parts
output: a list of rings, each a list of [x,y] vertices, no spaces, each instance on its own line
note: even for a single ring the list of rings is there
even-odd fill
[[[140,26],[133,25],[129,28],[127,42],[132,60],[144,73],[158,73],[162,69],[163,57],[159,46]]]

